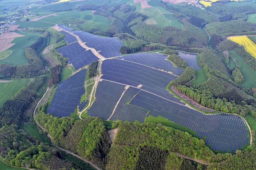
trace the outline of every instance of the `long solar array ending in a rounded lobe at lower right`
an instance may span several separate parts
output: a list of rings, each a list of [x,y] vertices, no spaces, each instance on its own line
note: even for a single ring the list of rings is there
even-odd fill
[[[207,137],[206,143],[212,150],[235,152],[248,142],[246,125],[237,115],[202,114],[142,90],[129,104],[150,110],[148,115],[162,116],[187,127],[197,132],[196,136],[200,138]]]

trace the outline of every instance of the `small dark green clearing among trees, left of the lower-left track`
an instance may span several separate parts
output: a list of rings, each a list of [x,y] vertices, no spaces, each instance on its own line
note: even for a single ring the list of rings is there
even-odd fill
[[[39,130],[37,129],[35,124],[23,124],[24,130],[30,134],[31,136],[36,137],[36,139],[40,140],[43,143],[50,143],[50,140],[47,137],[44,137],[42,134],[39,133]]]

